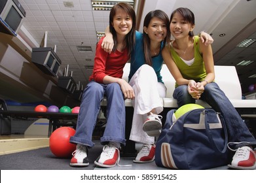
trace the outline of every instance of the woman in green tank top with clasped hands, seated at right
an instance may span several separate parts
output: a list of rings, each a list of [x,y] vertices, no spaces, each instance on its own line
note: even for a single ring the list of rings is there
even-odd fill
[[[252,148],[256,140],[225,93],[214,82],[211,45],[206,46],[193,36],[194,14],[188,8],[177,8],[170,20],[170,31],[175,41],[165,46],[162,56],[176,81],[174,98],[178,107],[202,99],[215,111],[221,112],[228,129],[229,148],[236,151],[229,167],[255,169],[256,155]]]

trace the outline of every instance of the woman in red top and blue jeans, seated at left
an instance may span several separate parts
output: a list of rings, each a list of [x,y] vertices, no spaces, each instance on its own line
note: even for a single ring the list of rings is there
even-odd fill
[[[86,86],[77,120],[77,129],[70,142],[77,144],[73,152],[71,166],[88,166],[88,148],[92,148],[92,132],[96,124],[100,103],[107,97],[107,125],[101,144],[103,150],[94,161],[101,167],[114,167],[119,163],[120,145],[125,145],[125,105],[124,99],[132,99],[132,87],[122,79],[123,68],[132,52],[135,39],[136,14],[126,3],[118,3],[109,14],[109,28],[113,34],[115,48],[111,54],[96,46],[94,70]]]

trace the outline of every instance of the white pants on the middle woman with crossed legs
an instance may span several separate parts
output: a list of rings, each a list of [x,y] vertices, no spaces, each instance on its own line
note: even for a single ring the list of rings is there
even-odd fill
[[[132,100],[134,116],[130,140],[144,144],[153,144],[155,137],[149,137],[142,129],[147,113],[155,109],[156,114],[163,110],[162,97],[166,96],[166,86],[157,81],[153,67],[145,64],[137,69],[129,84],[134,89],[135,99]]]

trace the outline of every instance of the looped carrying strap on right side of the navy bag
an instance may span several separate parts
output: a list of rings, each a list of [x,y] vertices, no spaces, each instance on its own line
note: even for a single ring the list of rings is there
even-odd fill
[[[212,135],[211,135],[211,129],[210,129],[210,125],[208,125],[209,123],[209,118],[208,118],[208,112],[210,111],[206,111],[204,110],[204,122],[205,122],[205,125],[206,125],[206,133],[207,133],[207,136],[208,136],[208,139],[211,143],[211,145],[213,146],[213,148],[215,148],[215,150],[218,150],[219,152],[226,152],[227,151],[227,144],[228,144],[228,135],[227,135],[227,127],[226,127],[226,124],[225,122],[222,122],[224,119],[222,118],[222,116],[218,113],[218,112],[215,112],[215,114],[217,115],[217,119],[219,120],[219,123],[222,124],[223,126],[223,131],[224,131],[224,135],[225,135],[225,144],[224,144],[224,148],[221,150],[219,149],[218,146],[216,146],[213,138],[212,138]]]

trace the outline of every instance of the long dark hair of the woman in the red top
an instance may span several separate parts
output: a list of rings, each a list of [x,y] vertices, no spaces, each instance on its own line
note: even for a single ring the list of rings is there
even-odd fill
[[[113,18],[117,13],[117,9],[119,8],[121,8],[127,14],[129,14],[130,18],[132,19],[132,29],[126,35],[126,47],[128,48],[128,53],[131,54],[132,50],[134,49],[134,43],[135,43],[136,14],[135,14],[134,8],[132,8],[132,6],[128,5],[127,3],[117,3],[111,8],[111,11],[109,14],[109,31],[112,33],[113,40],[114,40],[113,52],[115,52],[115,50],[117,49],[117,33],[113,27]]]

